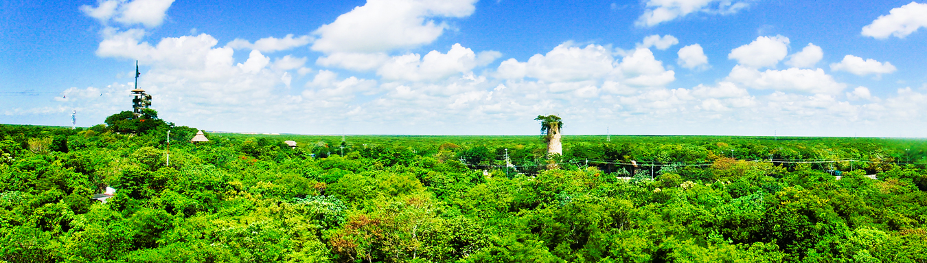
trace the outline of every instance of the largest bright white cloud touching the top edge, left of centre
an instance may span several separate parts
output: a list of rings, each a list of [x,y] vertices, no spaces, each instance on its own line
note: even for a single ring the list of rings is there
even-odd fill
[[[314,34],[312,50],[376,53],[430,44],[449,26],[437,18],[464,18],[476,0],[369,0]]]

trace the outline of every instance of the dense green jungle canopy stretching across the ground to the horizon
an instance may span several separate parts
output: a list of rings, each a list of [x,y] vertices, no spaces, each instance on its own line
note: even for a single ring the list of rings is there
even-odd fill
[[[924,140],[106,122],[0,125],[0,262],[927,262]]]

